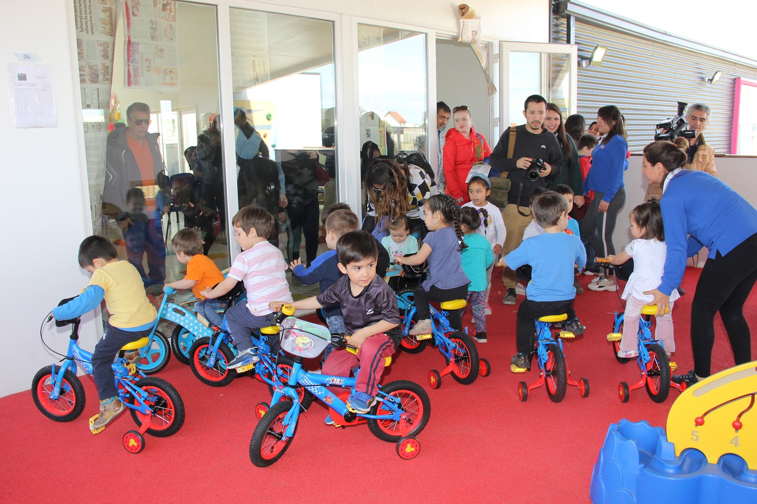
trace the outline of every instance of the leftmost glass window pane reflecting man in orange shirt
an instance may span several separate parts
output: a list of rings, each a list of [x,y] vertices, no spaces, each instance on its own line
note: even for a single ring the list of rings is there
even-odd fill
[[[220,112],[216,8],[159,4],[125,2],[109,39],[77,26],[76,41],[84,106],[107,118],[84,116],[95,233],[113,241],[152,294],[185,275],[171,246],[180,229],[196,229],[204,254],[229,266],[223,149],[211,123]],[[89,60],[111,48],[92,82]]]

